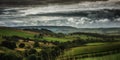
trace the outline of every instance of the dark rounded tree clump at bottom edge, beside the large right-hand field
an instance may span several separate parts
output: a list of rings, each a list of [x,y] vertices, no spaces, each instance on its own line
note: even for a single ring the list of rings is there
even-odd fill
[[[62,50],[59,47],[44,47],[39,53],[39,60],[56,60]]]

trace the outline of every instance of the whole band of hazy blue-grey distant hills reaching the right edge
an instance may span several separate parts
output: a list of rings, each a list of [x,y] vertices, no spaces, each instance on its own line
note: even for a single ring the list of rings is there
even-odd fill
[[[102,34],[120,34],[120,28],[75,28],[71,26],[21,26],[18,29],[48,29],[56,33],[89,32]]]

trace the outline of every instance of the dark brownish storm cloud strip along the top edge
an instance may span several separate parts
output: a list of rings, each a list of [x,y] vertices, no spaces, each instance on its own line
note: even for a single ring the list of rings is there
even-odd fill
[[[107,0],[0,0],[0,5],[71,4],[85,1],[107,1]]]

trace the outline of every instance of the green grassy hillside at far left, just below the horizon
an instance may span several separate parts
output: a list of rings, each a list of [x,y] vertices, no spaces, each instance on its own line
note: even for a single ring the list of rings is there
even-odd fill
[[[30,32],[10,29],[10,28],[0,28],[0,35],[3,36],[20,36],[24,38],[28,38],[28,37],[33,38],[35,34],[36,33],[30,33]]]

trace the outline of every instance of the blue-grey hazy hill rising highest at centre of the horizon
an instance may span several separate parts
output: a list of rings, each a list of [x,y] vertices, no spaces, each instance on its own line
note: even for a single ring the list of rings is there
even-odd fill
[[[15,27],[18,29],[48,29],[53,32],[62,32],[62,33],[71,33],[71,32],[76,32],[79,29],[71,26],[20,26],[20,27]]]

